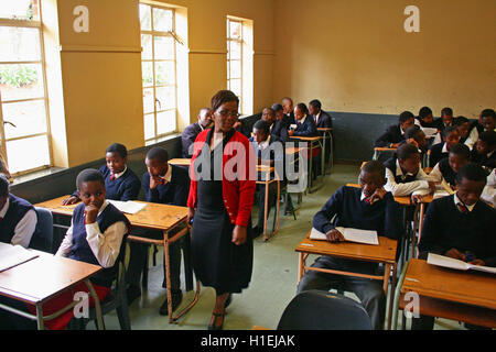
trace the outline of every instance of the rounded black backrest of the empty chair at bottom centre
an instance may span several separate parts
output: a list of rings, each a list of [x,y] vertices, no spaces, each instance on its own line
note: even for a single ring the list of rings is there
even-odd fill
[[[364,307],[345,296],[324,290],[296,295],[285,307],[278,330],[371,330]]]

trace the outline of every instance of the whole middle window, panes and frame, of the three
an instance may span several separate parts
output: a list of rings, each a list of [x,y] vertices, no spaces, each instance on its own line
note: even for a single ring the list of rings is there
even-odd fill
[[[175,11],[140,3],[144,141],[177,130]]]

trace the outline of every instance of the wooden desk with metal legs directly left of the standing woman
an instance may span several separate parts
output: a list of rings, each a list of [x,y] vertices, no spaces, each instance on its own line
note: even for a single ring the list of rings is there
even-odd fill
[[[47,200],[41,204],[35,205],[35,207],[45,208],[52,211],[55,215],[69,216],[72,217],[74,209],[77,205],[72,206],[63,206],[62,200],[68,198],[69,196],[58,197],[52,200]],[[176,207],[169,205],[161,205],[155,202],[145,202],[147,207],[141,211],[134,215],[126,215],[128,220],[131,222],[131,226],[137,228],[150,229],[150,230],[159,230],[163,232],[163,239],[150,239],[137,235],[129,235],[128,241],[136,241],[148,244],[157,244],[163,245],[164,258],[165,258],[165,279],[168,286],[168,304],[169,304],[169,322],[175,322],[179,318],[181,318],[184,314],[186,314],[198,300],[200,297],[200,283],[196,280],[196,295],[193,301],[184,308],[177,316],[173,316],[172,311],[172,294],[169,287],[171,287],[171,275],[170,275],[170,257],[169,257],[169,245],[180,240],[182,237],[187,234],[187,228],[179,231],[172,238],[169,238],[169,233],[176,229],[179,226],[186,223],[187,218],[187,208],[186,207]]]

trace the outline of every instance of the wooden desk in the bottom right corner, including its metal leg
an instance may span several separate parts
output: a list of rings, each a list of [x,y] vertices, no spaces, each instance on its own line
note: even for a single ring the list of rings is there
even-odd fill
[[[412,258],[395,293],[392,329],[409,292],[420,296],[420,314],[496,328],[496,276],[461,272]]]

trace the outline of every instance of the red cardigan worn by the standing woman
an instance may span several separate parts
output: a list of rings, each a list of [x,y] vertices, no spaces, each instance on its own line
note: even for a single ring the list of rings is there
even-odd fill
[[[205,130],[196,136],[191,165],[194,165],[196,157],[206,142],[207,135],[208,130]],[[230,222],[237,226],[247,227],[251,216],[257,180],[256,161],[255,151],[248,139],[235,131],[224,147],[223,199]],[[228,167],[225,169],[226,163],[228,163]],[[235,166],[233,166],[234,164]],[[229,170],[233,172],[230,173]],[[190,177],[191,187],[187,207],[196,208],[197,180],[195,179],[194,167],[190,167]]]

